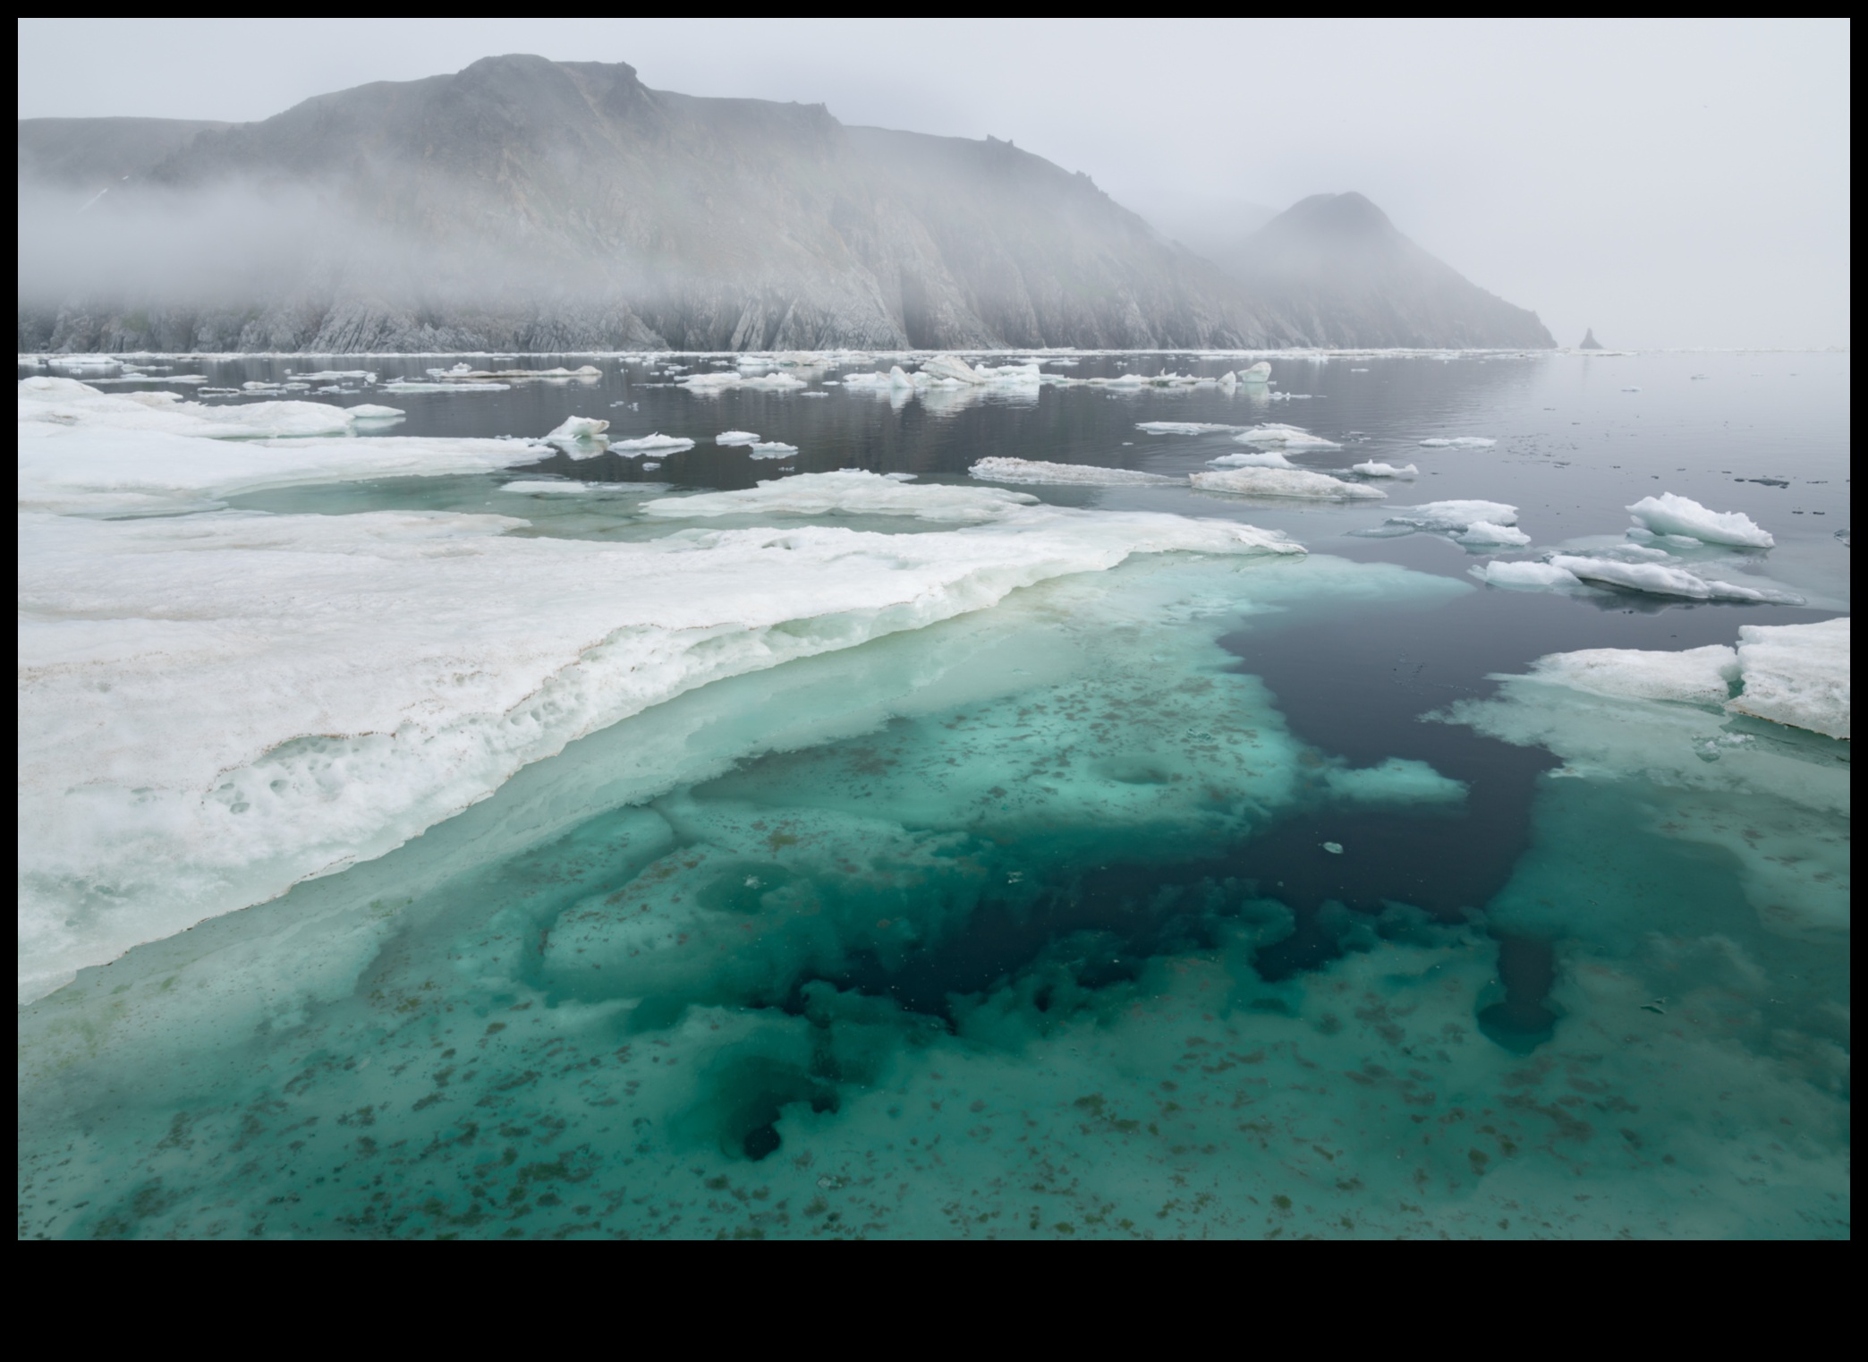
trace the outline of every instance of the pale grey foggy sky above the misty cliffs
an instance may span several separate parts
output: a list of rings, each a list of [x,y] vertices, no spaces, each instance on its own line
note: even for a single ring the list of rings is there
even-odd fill
[[[260,120],[502,52],[1009,138],[1158,226],[1360,191],[1560,344],[1849,342],[1847,21],[22,19],[21,118]]]

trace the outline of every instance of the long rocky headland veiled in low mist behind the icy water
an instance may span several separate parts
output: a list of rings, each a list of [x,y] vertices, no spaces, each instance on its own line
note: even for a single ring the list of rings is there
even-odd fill
[[[1009,142],[620,64],[488,58],[241,125],[19,127],[32,351],[1552,344],[1418,247],[1414,275],[1476,299],[1435,275],[1444,306],[1397,306],[1407,269],[1319,291],[1369,254],[1341,232],[1248,277]],[[1255,235],[1308,230],[1287,219]]]

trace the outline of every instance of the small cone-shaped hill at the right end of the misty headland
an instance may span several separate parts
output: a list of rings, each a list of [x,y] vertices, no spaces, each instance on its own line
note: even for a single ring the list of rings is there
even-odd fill
[[[1487,293],[1408,241],[1362,194],[1313,194],[1220,260],[1308,346],[1556,342],[1535,312]]]

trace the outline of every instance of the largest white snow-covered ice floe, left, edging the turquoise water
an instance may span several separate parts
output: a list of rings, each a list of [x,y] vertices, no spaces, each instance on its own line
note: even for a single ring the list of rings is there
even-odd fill
[[[37,415],[22,420],[22,501],[84,514],[19,518],[28,1000],[381,856],[527,762],[710,680],[1130,553],[1302,553],[1231,521],[1048,506],[921,534],[800,525],[628,544],[514,536],[525,521],[448,512],[97,519],[536,454],[517,441],[230,445]],[[928,504],[955,493],[874,482]]]

